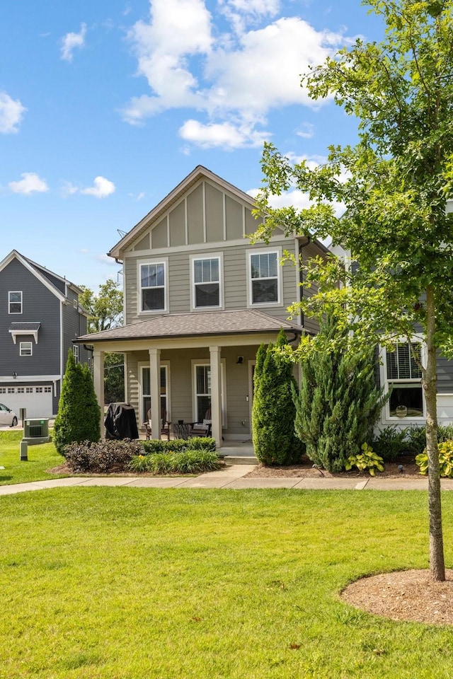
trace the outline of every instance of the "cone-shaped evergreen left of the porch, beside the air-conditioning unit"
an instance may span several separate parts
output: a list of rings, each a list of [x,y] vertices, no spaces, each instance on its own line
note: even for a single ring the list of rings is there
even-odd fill
[[[74,354],[69,350],[54,424],[55,448],[64,455],[64,446],[68,443],[98,441],[101,438],[100,423],[101,410],[91,373],[88,366],[76,364]]]

